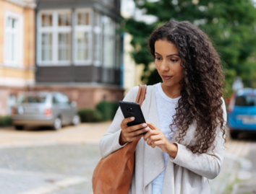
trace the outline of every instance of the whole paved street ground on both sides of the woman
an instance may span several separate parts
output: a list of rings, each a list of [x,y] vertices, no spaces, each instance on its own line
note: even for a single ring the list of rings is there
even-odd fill
[[[0,194],[93,193],[91,176],[101,156],[98,142],[111,122],[82,123],[60,131],[0,129]],[[228,138],[211,193],[256,193],[256,136]]]

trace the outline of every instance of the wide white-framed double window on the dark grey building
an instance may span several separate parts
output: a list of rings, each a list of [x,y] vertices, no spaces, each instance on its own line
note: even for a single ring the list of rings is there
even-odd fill
[[[71,10],[38,13],[38,65],[70,65],[72,61]]]

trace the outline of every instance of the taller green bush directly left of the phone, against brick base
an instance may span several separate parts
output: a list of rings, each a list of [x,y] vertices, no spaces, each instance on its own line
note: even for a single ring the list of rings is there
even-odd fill
[[[98,103],[96,109],[101,111],[103,115],[103,120],[112,120],[116,115],[116,110],[119,108],[119,103],[117,102],[107,102],[105,100]]]

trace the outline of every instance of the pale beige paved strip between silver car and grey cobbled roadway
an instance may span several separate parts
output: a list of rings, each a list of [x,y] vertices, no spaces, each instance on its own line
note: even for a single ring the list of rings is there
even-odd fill
[[[65,126],[59,131],[52,129],[28,128],[16,131],[13,127],[0,128],[0,147],[42,146],[56,144],[98,144],[106,133],[111,121],[82,123]]]

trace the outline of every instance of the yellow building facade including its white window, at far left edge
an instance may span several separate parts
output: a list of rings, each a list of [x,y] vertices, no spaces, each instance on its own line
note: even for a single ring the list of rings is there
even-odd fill
[[[0,0],[0,115],[35,82],[35,2]]]

